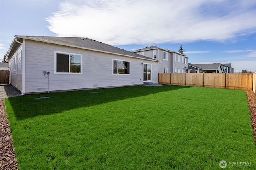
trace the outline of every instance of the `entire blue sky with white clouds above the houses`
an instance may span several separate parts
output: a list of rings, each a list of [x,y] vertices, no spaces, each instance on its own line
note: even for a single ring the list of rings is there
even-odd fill
[[[256,71],[256,0],[0,0],[0,21],[0,57],[14,35],[88,37]]]

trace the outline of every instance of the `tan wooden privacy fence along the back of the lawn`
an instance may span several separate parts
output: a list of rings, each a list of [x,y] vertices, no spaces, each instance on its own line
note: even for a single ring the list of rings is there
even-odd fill
[[[254,76],[255,73],[159,73],[158,82],[159,84],[175,84],[186,86],[253,90],[253,82],[255,84]]]

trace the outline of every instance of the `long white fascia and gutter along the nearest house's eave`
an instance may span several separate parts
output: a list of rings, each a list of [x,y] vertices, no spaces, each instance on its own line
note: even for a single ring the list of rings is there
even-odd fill
[[[97,52],[101,52],[101,53],[109,53],[109,54],[114,54],[114,55],[122,55],[122,56],[125,56],[125,57],[133,57],[133,58],[137,58],[137,59],[144,59],[144,58],[140,58],[140,57],[134,57],[134,56],[124,55],[124,54],[119,54],[119,53],[112,53],[112,52],[108,52],[108,51],[90,49],[90,48],[80,47],[80,46],[76,46],[76,45],[67,45],[67,44],[64,44],[64,43],[56,43],[56,42],[52,42],[52,41],[46,41],[46,40],[41,40],[41,39],[33,39],[33,38],[28,38],[28,37],[23,37],[23,36],[17,36],[17,37],[22,38],[22,39],[32,40],[32,41],[40,41],[40,42],[44,42],[44,43],[64,45],[64,46],[67,46],[67,47],[74,47],[74,48],[78,48],[78,49],[86,49],[86,50],[90,50],[90,51],[97,51]],[[144,59],[144,60],[150,60],[150,61],[158,62],[157,60],[154,60],[154,59]]]

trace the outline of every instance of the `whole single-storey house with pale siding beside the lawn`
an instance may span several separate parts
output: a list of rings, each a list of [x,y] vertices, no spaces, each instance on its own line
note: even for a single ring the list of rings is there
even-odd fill
[[[89,38],[14,36],[6,60],[22,95],[158,83],[158,61]]]

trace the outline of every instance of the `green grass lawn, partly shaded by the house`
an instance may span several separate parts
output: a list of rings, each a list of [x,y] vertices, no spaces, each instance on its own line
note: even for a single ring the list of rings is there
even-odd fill
[[[20,170],[256,167],[243,90],[129,86],[5,102]]]

